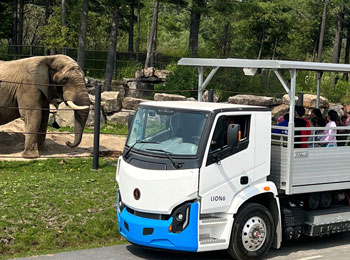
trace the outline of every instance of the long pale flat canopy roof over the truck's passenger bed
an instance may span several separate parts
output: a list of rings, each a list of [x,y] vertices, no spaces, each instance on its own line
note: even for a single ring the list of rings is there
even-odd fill
[[[350,72],[349,64],[287,61],[287,60],[182,58],[179,60],[178,65],[198,66],[198,67],[296,69],[296,70],[311,70],[311,71]]]

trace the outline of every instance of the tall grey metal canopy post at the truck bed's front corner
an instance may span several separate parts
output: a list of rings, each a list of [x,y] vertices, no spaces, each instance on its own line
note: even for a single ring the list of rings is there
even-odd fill
[[[292,192],[292,174],[293,174],[293,159],[294,159],[294,115],[295,115],[295,86],[297,71],[295,69],[289,70],[291,85],[289,95],[289,123],[288,123],[288,147],[287,147],[287,183],[286,194]]]

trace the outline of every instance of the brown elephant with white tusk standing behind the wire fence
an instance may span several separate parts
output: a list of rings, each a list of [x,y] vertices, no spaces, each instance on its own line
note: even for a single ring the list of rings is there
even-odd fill
[[[24,120],[22,157],[37,158],[45,149],[49,104],[56,99],[74,109],[74,141],[66,144],[78,146],[90,105],[79,65],[66,55],[0,61],[0,125]]]

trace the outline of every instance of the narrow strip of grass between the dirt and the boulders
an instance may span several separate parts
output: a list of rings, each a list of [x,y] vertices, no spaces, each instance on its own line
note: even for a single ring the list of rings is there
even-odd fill
[[[59,129],[53,128],[49,126],[47,128],[50,132],[70,132],[74,133],[74,128],[72,127],[61,127]],[[84,128],[85,133],[93,133],[94,128],[92,127],[85,127]],[[104,126],[101,127],[100,132],[102,134],[119,134],[119,135],[127,135],[128,134],[128,126],[123,124],[117,124],[117,123],[107,123]]]

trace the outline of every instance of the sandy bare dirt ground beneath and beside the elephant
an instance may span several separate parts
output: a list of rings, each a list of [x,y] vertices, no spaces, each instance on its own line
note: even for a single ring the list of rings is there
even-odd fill
[[[21,119],[0,126],[0,160],[23,160],[21,153],[24,149],[24,134],[21,132],[24,132],[24,122]],[[41,153],[40,158],[88,157],[92,155],[93,133],[85,133],[78,147],[68,147],[66,141],[73,142],[73,140],[74,134],[48,132],[45,141],[46,151]],[[119,156],[124,148],[125,140],[126,137],[101,134],[100,155]]]

